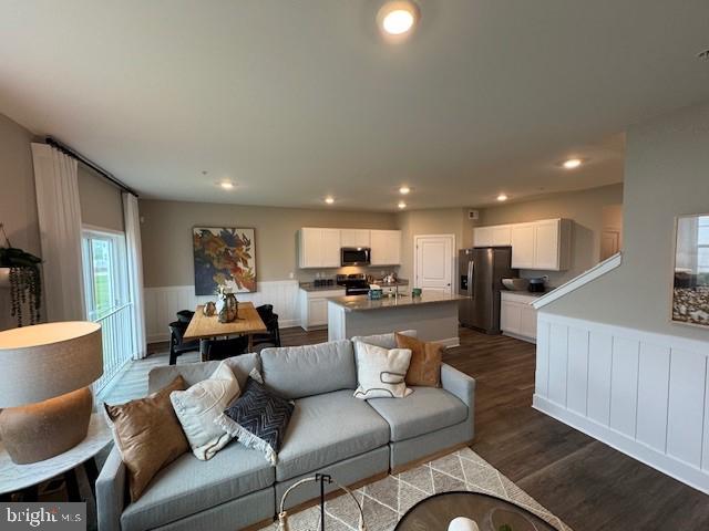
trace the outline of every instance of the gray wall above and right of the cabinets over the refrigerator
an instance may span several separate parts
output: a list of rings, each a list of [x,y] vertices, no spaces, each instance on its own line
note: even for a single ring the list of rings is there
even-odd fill
[[[615,214],[614,225],[621,225],[623,185],[555,194],[542,199],[514,202],[481,211],[481,225],[521,223],[538,219],[574,220],[572,267],[567,271],[521,271],[521,277],[549,275],[549,285],[561,285],[593,268],[599,261],[600,233]],[[608,208],[612,207],[612,208]],[[613,208],[615,207],[615,208]]]

